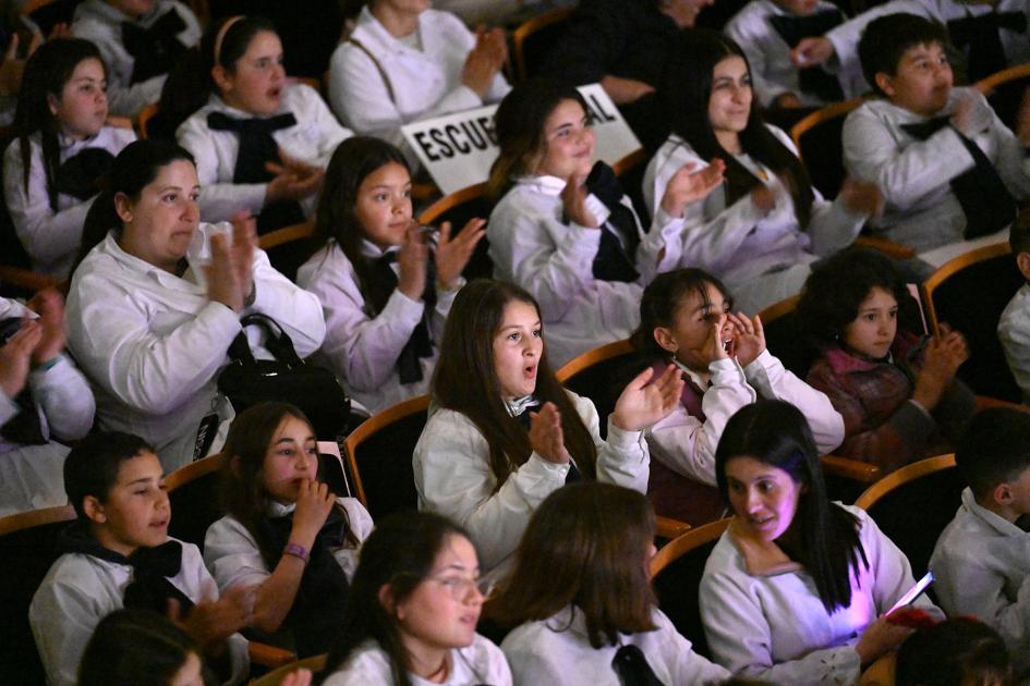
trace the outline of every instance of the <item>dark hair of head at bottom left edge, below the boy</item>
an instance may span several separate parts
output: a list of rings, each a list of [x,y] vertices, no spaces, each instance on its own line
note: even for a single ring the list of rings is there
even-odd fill
[[[204,683],[218,681],[204,669],[204,653],[184,630],[153,610],[116,610],[89,638],[78,665],[81,686],[167,686],[190,654],[201,661]]]

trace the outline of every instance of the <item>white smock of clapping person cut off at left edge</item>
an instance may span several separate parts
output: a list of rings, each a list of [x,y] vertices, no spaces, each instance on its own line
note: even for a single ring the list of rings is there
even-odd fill
[[[0,297],[0,319],[26,316],[36,315],[15,301]],[[48,442],[21,445],[0,438],[0,516],[66,503],[64,457],[69,449],[56,439],[74,441],[93,428],[93,392],[68,356],[58,355],[52,367],[33,369],[28,388]],[[19,412],[13,399],[0,391],[0,426]]]

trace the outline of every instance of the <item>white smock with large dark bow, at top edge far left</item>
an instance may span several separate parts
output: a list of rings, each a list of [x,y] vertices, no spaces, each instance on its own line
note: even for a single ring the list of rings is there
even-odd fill
[[[161,99],[167,74],[132,83],[135,58],[122,44],[122,23],[130,22],[148,28],[168,12],[177,12],[186,25],[175,38],[186,48],[201,41],[201,24],[189,7],[178,0],[157,0],[154,9],[138,21],[105,0],[86,0],[75,9],[72,35],[85,38],[100,50],[107,65],[107,99],[111,114],[136,117],[143,108]]]

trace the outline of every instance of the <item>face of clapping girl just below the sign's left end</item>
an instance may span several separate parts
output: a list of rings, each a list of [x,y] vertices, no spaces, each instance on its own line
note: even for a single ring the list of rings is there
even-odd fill
[[[365,176],[355,207],[365,237],[380,249],[404,242],[411,224],[411,175],[403,164],[389,162]]]

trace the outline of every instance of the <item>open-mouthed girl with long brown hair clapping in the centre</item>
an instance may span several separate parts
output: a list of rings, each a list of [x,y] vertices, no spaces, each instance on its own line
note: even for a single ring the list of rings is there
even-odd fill
[[[451,306],[435,406],[415,445],[420,509],[464,526],[484,576],[504,576],[530,516],[567,481],[646,490],[642,429],[672,409],[682,388],[671,366],[647,385],[651,376],[626,388],[602,440],[594,404],[567,391],[548,366],[533,297],[501,281],[473,281]]]

